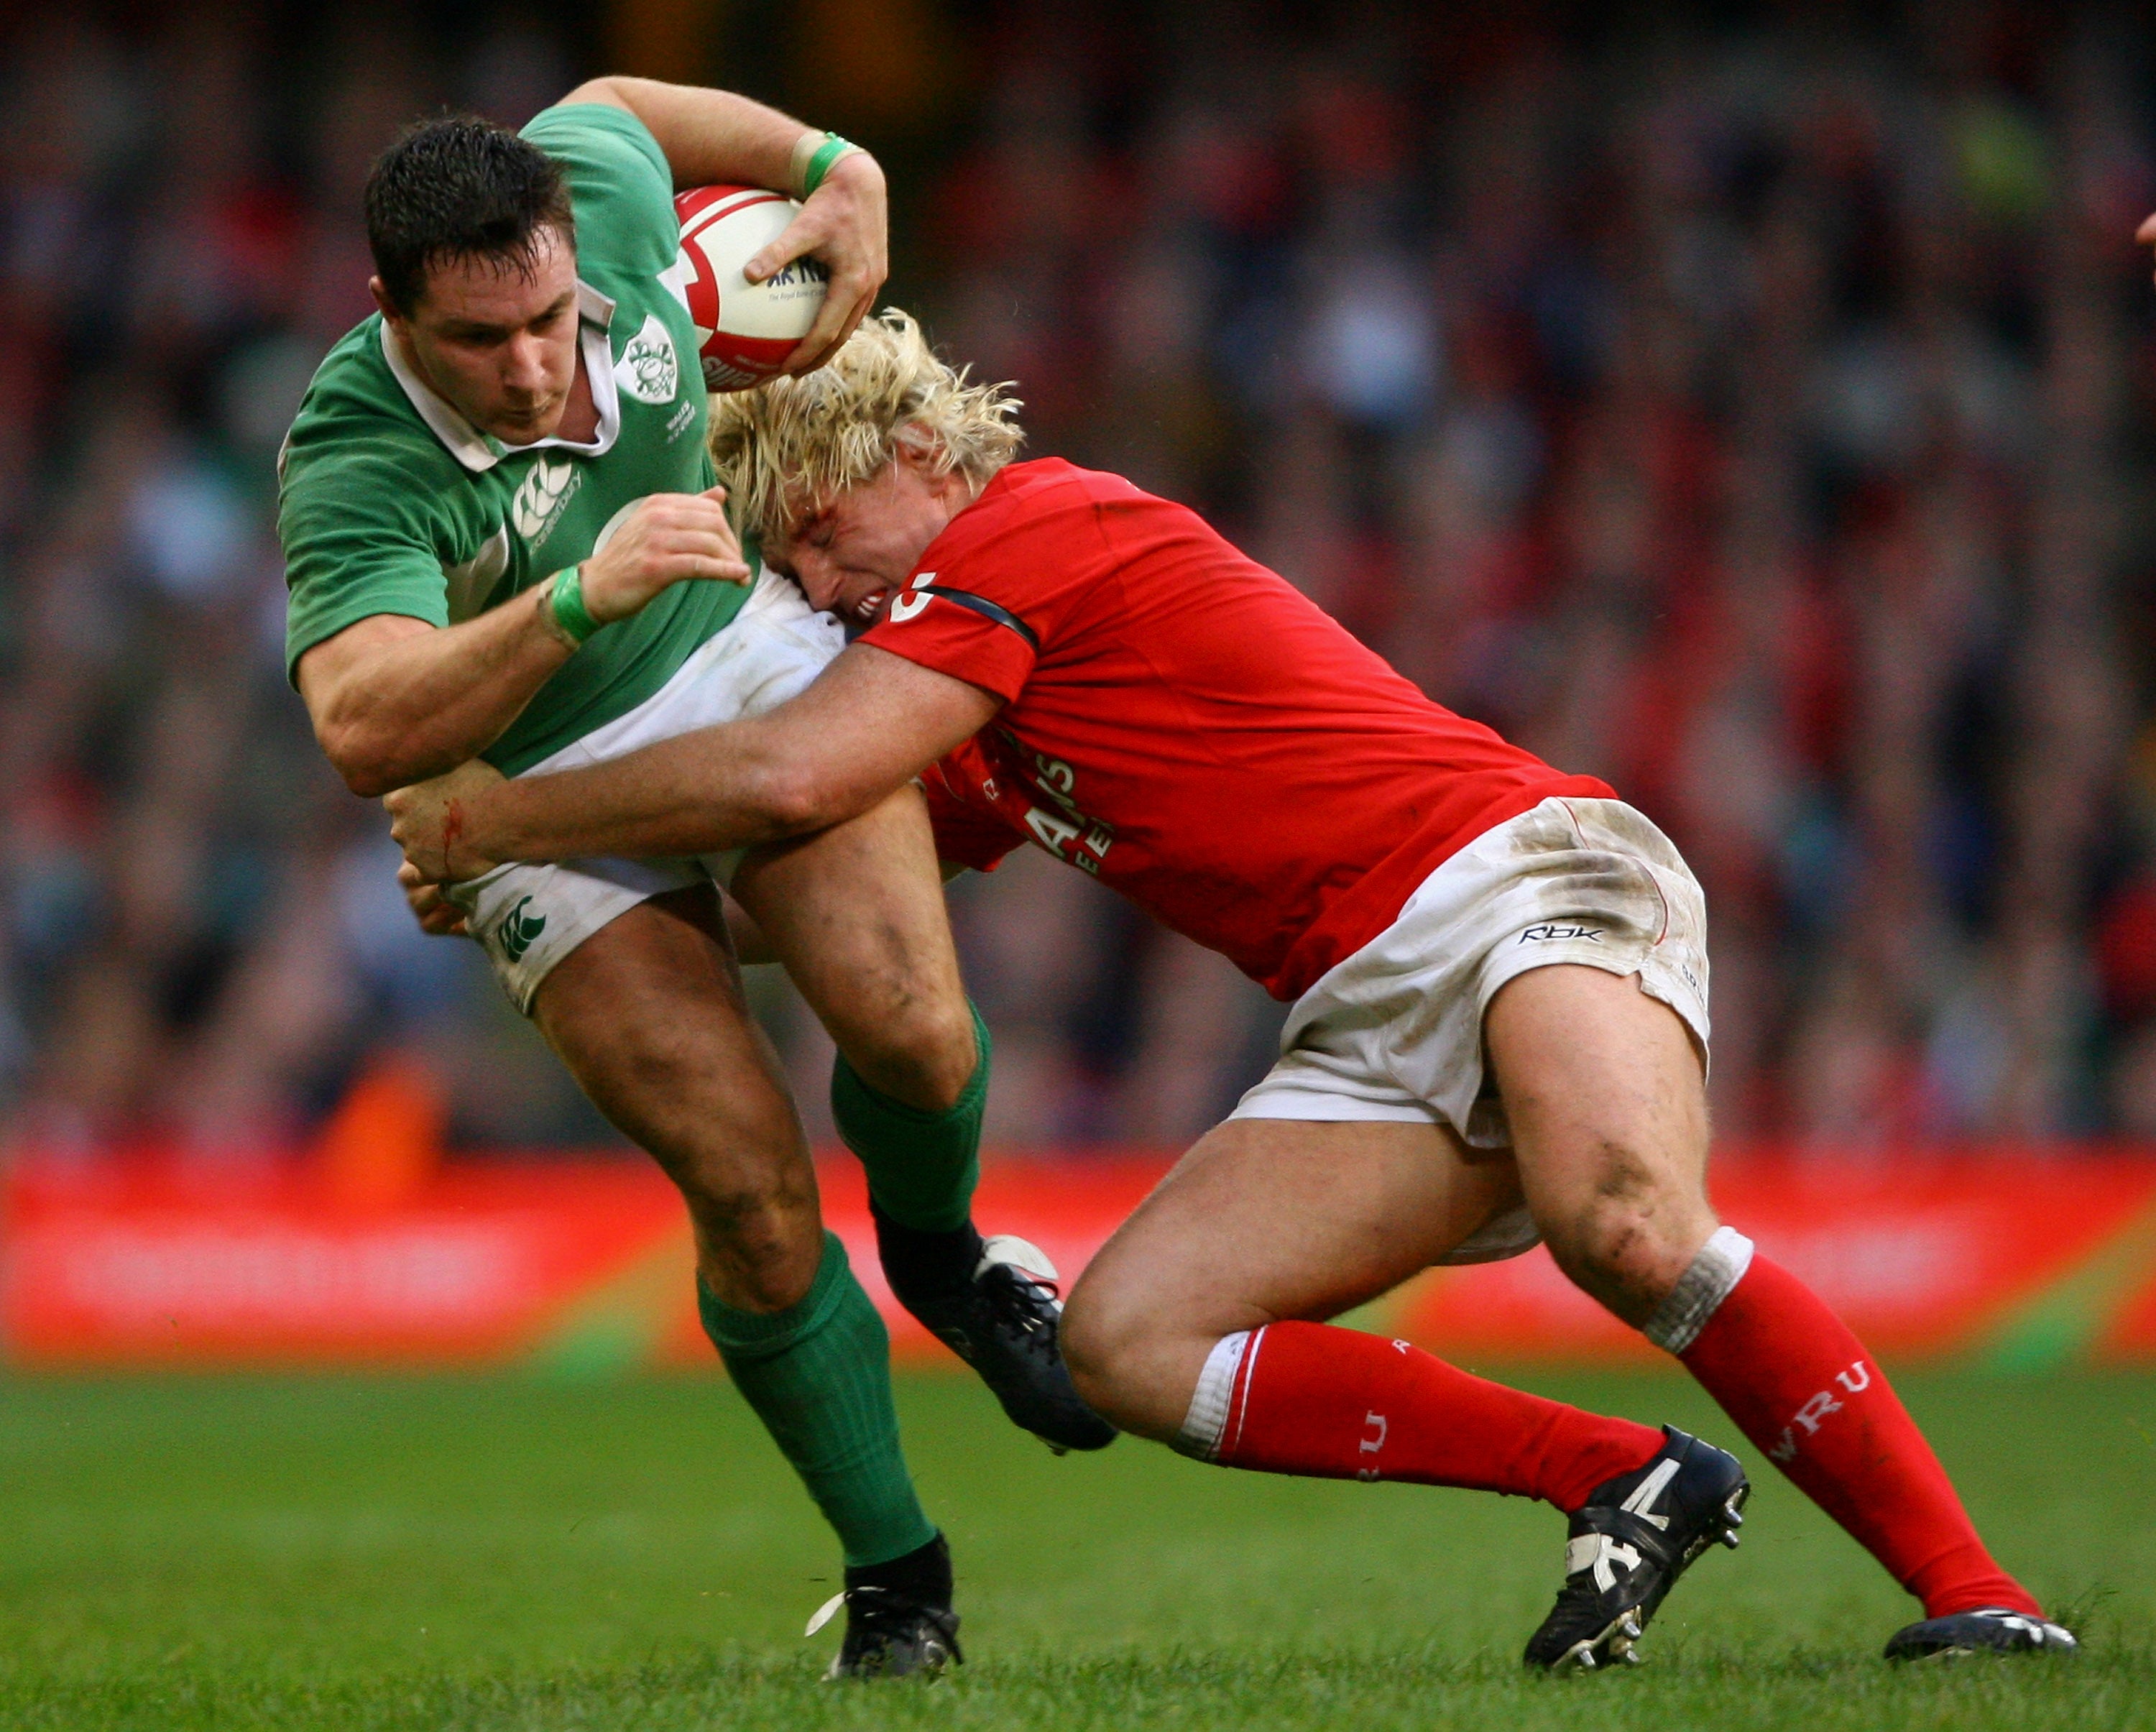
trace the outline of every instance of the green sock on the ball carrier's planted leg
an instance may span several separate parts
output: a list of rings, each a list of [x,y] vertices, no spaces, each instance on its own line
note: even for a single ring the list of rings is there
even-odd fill
[[[696,1309],[763,1430],[839,1534],[847,1568],[888,1564],[936,1538],[899,1454],[890,1335],[837,1234],[824,1234],[824,1262],[798,1305],[737,1311],[696,1281]]]

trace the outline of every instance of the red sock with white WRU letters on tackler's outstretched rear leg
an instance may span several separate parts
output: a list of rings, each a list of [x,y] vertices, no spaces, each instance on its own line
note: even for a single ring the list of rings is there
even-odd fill
[[[2001,1570],[1947,1469],[1846,1322],[1753,1255],[1684,1367],[1798,1488],[1923,1600],[1925,1618],[2001,1605],[2040,1616]]]

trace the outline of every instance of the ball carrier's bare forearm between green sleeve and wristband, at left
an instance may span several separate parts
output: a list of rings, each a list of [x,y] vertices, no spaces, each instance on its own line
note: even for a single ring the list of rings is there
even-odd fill
[[[369,615],[308,649],[298,675],[321,751],[345,787],[373,796],[483,753],[567,660],[526,589],[446,630]]]

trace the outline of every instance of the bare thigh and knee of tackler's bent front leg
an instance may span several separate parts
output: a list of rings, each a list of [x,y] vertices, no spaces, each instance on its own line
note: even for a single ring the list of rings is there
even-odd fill
[[[1175,1406],[1222,1335],[1354,1309],[1518,1199],[1509,1160],[1436,1124],[1229,1119],[1093,1257],[1065,1342],[1089,1376],[1160,1383]]]

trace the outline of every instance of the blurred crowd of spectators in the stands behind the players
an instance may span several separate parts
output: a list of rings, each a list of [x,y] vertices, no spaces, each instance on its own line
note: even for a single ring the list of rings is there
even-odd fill
[[[604,1124],[282,677],[278,440],[444,104],[871,145],[890,298],[1708,886],[1725,1135],[2156,1137],[2143,9],[28,4],[0,17],[0,1126],[272,1163]],[[1281,1007],[955,886],[1003,1145],[1175,1145]],[[765,973],[765,971],[757,971]],[[813,1128],[828,1046],[759,1003]]]

